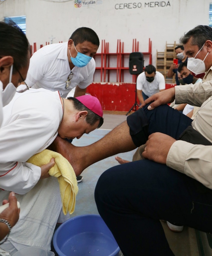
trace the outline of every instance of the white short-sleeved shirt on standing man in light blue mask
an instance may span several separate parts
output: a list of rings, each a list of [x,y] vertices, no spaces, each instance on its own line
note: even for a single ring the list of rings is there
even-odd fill
[[[59,91],[60,96],[66,97],[72,88],[77,85],[85,89],[93,82],[95,71],[95,60],[82,68],[74,67],[72,69],[73,77],[70,86],[65,89],[65,82],[70,73],[70,67],[67,56],[68,42],[46,45],[36,51],[29,64],[27,85],[32,88],[45,88],[51,91]]]

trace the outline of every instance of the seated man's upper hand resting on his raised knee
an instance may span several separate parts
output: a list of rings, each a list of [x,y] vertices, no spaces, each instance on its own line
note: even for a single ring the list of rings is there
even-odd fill
[[[147,105],[148,103],[153,101],[148,106],[148,110],[151,110],[160,105],[165,105],[167,103],[171,103],[174,101],[174,99],[175,99],[175,88],[170,88],[170,89],[164,90],[162,92],[158,92],[158,93],[152,95],[151,97],[149,97],[148,99],[146,99],[143,102],[143,104],[140,105],[139,109],[141,109],[142,107],[144,107],[145,105]]]

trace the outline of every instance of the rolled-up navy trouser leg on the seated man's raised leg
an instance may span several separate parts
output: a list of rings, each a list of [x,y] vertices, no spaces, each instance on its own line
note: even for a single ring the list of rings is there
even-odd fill
[[[149,104],[127,117],[130,135],[138,147],[145,144],[148,136],[154,132],[167,134],[177,140],[180,134],[191,125],[191,118],[168,105],[161,105],[154,110],[148,110],[148,106]]]

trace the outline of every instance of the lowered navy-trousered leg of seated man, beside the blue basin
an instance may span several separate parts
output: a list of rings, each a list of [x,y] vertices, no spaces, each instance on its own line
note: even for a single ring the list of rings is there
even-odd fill
[[[205,188],[201,194],[202,187],[145,159],[105,171],[96,185],[95,201],[123,255],[171,256],[160,219],[212,231],[212,190]]]

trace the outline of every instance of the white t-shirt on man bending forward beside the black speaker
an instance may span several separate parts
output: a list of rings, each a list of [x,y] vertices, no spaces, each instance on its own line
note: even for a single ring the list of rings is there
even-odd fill
[[[142,90],[144,94],[150,97],[153,94],[160,92],[160,90],[165,89],[164,76],[156,71],[154,80],[149,83],[146,79],[145,72],[142,72],[137,78],[136,88],[137,90]]]

